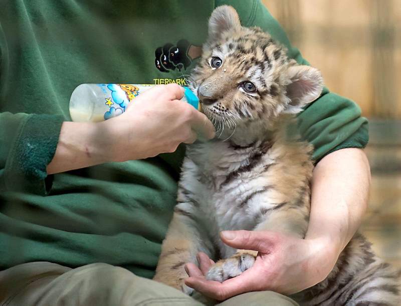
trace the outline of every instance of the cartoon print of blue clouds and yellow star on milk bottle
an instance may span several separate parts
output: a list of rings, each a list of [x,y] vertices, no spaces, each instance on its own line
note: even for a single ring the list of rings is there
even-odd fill
[[[97,84],[105,93],[104,103],[108,106],[108,111],[104,113],[104,119],[122,114],[128,103],[131,102],[139,93],[151,88],[150,84]]]

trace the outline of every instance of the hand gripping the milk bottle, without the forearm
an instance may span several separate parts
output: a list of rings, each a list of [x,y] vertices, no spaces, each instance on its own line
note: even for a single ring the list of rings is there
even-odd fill
[[[184,89],[174,83],[146,90],[126,111],[104,122],[114,137],[113,161],[152,157],[173,152],[181,142],[215,136],[207,116],[188,103],[179,101]]]

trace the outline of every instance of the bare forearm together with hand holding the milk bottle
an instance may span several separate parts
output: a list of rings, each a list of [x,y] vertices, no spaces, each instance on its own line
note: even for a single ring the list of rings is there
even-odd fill
[[[64,122],[48,174],[108,161],[125,161],[173,152],[198,135],[215,135],[212,122],[179,99],[183,88],[160,85],[135,98],[125,112],[106,121]]]

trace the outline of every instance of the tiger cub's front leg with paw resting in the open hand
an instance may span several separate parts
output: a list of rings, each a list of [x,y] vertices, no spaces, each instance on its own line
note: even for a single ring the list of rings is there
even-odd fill
[[[280,208],[272,208],[270,213],[261,211],[261,220],[254,230],[271,230],[286,233],[291,236],[303,238],[308,228],[309,204],[305,197],[304,204],[283,205]],[[256,260],[257,251],[239,249],[226,259],[221,259],[214,264],[206,274],[206,278],[223,282],[226,279],[240,275],[249,269]]]

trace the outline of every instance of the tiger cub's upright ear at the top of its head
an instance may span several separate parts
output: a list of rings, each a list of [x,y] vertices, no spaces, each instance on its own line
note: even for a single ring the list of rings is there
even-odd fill
[[[218,6],[209,19],[209,41],[219,40],[223,32],[236,31],[240,28],[240,17],[234,7],[229,5]]]

